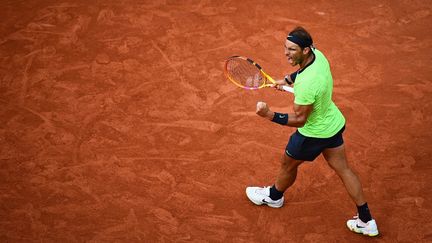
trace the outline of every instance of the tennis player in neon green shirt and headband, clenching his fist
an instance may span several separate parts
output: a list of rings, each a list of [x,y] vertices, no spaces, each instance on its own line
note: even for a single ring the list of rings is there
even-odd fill
[[[275,123],[297,127],[286,146],[279,174],[273,186],[247,187],[247,197],[256,205],[272,208],[283,206],[284,192],[293,185],[297,168],[323,154],[329,166],[341,178],[357,206],[358,214],[347,221],[351,231],[377,236],[378,227],[369,211],[358,176],[348,165],[343,132],[345,118],[332,101],[333,78],[330,65],[322,52],[313,46],[311,35],[302,27],[292,30],[285,41],[285,55],[299,69],[275,86],[294,86],[293,113],[273,112],[266,103],[258,102],[256,113]]]

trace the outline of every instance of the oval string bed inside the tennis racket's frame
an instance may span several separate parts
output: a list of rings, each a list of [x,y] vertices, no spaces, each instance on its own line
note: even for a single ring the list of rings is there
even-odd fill
[[[265,83],[265,77],[260,70],[255,65],[240,58],[233,58],[228,61],[227,73],[231,81],[244,88],[257,89]]]

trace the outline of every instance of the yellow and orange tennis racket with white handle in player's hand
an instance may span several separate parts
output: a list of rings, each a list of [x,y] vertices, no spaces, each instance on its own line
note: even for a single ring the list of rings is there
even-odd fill
[[[225,76],[238,87],[247,90],[274,87],[276,84],[258,63],[242,56],[232,56],[225,61]],[[282,86],[282,88],[294,93],[292,87]]]

